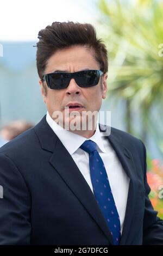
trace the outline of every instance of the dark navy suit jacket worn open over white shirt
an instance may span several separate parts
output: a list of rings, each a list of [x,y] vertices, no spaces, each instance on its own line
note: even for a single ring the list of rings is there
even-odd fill
[[[120,244],[163,245],[163,222],[148,199],[143,143],[114,128],[106,139],[130,178]],[[0,149],[0,185],[0,245],[112,244],[89,185],[46,115]]]

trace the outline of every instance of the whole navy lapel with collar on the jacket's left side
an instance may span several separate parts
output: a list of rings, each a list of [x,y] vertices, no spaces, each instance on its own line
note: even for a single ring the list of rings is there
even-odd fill
[[[35,127],[35,132],[39,137],[42,149],[52,152],[49,163],[52,164],[55,171],[65,181],[72,193],[82,203],[83,207],[95,220],[99,228],[102,229],[104,235],[112,244],[112,236],[105,223],[101,210],[98,207],[95,196],[93,195],[89,185],[84,176],[78,169],[76,163],[73,161],[67,149],[61,143],[59,138],[55,135],[51,127],[46,122],[46,115]]]

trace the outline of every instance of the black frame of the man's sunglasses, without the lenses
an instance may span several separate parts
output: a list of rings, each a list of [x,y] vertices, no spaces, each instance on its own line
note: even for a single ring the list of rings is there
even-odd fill
[[[49,76],[50,76],[50,75],[52,75],[52,74],[68,74],[68,75],[70,75],[70,77],[69,77],[69,78],[70,78],[70,81],[71,81],[72,78],[74,78],[74,80],[76,81],[76,76],[77,76],[77,74],[79,74],[80,72],[84,72],[84,71],[96,71],[96,75],[98,75],[98,77],[97,77],[98,82],[99,82],[99,78],[104,74],[104,72],[101,71],[101,70],[99,70],[99,69],[82,70],[82,71],[77,71],[77,72],[73,72],[73,73],[70,73],[70,72],[53,72],[53,73],[49,73],[49,74],[43,75],[42,81],[46,81],[47,86],[48,86],[50,89],[53,89],[53,90],[61,90],[61,89],[67,88],[67,87],[69,86],[70,82],[69,82],[69,83],[67,84],[67,86],[64,87],[64,88],[51,88],[51,84],[50,84],[50,82],[49,82]],[[97,84],[98,84],[98,82],[97,82]],[[76,83],[77,83],[77,82],[76,82]],[[78,84],[78,83],[77,83],[77,84]],[[81,86],[81,85],[78,84],[78,86],[79,86],[79,87],[83,87],[83,88],[87,88],[87,87],[97,86],[97,84],[93,84],[93,85],[91,85],[91,86]]]

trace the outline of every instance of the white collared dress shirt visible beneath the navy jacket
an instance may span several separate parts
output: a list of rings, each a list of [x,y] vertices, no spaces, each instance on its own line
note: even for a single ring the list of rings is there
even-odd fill
[[[79,148],[87,140],[87,138],[63,129],[51,118],[48,111],[46,120],[54,133],[58,136],[62,144],[72,156],[74,162],[77,164],[80,172],[83,174],[87,184],[90,186],[93,192],[89,169],[89,154]],[[108,139],[106,139],[104,136],[101,136],[98,123],[96,126],[96,132],[89,139],[97,144],[98,153],[104,162],[112,195],[114,197],[116,208],[120,216],[122,234],[128,197],[129,177],[127,176],[126,172],[124,172],[122,165],[118,160],[118,157],[114,149],[111,147]]]

